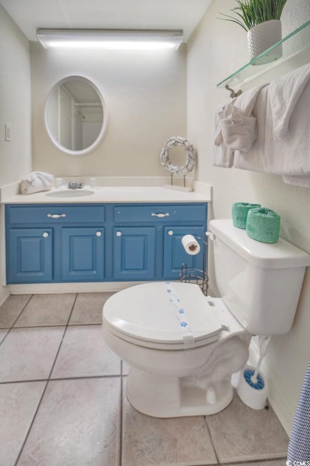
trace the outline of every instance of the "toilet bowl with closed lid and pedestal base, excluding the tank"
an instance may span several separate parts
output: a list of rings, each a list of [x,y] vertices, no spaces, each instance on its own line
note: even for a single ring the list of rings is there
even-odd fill
[[[188,334],[182,333],[163,282],[109,298],[104,339],[130,366],[126,394],[138,411],[155,417],[217,413],[233,398],[231,374],[247,362],[251,335],[221,299],[204,297],[196,284],[171,286],[182,307],[191,307],[186,318],[192,342],[186,347]]]

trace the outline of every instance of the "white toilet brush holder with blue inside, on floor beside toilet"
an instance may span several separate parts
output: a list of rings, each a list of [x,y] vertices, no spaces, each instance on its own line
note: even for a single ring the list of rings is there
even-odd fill
[[[255,367],[244,366],[240,373],[237,394],[249,408],[263,409],[267,401],[267,384],[261,372],[257,374],[257,382],[253,383],[251,377],[254,372]]]

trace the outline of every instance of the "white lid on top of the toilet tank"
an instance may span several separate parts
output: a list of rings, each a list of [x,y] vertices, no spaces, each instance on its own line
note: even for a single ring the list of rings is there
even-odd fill
[[[277,243],[260,243],[245,230],[233,226],[232,219],[211,220],[209,230],[246,261],[263,268],[310,266],[310,255],[279,238]]]

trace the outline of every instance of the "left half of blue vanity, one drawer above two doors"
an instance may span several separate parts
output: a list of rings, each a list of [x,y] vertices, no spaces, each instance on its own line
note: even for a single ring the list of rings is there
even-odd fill
[[[105,280],[103,204],[11,204],[5,222],[7,283]]]

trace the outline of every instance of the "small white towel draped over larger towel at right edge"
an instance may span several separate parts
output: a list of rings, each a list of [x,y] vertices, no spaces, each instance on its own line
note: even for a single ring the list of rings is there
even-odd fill
[[[310,64],[307,64],[270,83],[268,100],[275,141],[287,134],[294,108],[309,80]]]

